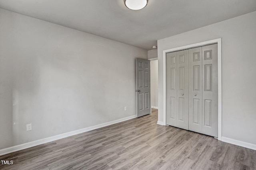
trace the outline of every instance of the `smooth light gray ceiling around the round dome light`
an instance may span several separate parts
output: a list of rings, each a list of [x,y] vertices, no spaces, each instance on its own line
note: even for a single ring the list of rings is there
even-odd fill
[[[150,50],[157,40],[256,11],[256,0],[0,0],[0,8]]]

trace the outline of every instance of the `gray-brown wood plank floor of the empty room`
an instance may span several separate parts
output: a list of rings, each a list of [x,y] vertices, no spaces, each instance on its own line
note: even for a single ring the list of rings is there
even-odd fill
[[[256,150],[157,125],[152,114],[0,156],[3,170],[256,170]]]

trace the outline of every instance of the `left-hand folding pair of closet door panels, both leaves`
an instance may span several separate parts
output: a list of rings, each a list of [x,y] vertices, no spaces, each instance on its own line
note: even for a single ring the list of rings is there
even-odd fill
[[[167,53],[167,124],[188,130],[188,50]]]

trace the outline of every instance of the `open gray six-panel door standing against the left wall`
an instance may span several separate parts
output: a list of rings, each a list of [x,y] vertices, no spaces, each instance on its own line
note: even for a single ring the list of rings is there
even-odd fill
[[[150,108],[150,61],[136,59],[137,117],[148,115]]]

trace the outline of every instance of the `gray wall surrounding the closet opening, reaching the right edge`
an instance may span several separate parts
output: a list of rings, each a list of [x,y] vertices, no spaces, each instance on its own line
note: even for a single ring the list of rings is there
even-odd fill
[[[158,40],[158,121],[163,121],[163,50],[222,38],[222,136],[256,144],[256,12]]]

